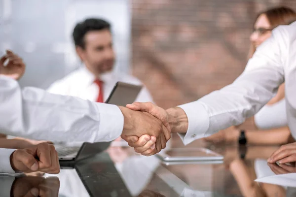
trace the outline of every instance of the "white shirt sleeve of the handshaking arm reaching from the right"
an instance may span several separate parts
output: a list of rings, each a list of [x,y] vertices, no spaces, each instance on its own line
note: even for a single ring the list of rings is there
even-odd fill
[[[288,36],[284,27],[277,28],[271,38],[259,46],[244,72],[231,85],[180,105],[189,122],[186,134],[180,135],[185,144],[243,123],[273,97],[284,82],[290,44]]]

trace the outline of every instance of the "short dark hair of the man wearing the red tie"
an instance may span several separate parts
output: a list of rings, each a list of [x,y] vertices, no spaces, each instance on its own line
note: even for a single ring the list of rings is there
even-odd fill
[[[84,35],[91,31],[111,31],[111,25],[103,19],[88,18],[83,22],[78,23],[73,31],[73,40],[75,46],[80,46],[84,48]]]

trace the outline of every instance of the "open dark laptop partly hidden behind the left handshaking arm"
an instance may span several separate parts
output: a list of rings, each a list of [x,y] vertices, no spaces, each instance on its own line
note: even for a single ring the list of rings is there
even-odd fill
[[[105,103],[126,106],[137,99],[141,90],[142,86],[140,85],[117,82]],[[59,161],[75,162],[106,150],[110,144],[111,142],[63,142],[55,144],[55,148],[58,152]]]

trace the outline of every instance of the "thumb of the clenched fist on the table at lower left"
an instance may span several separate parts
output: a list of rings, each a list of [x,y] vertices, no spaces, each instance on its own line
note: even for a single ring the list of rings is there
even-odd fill
[[[32,171],[37,171],[39,168],[39,164],[35,157],[24,150],[15,151],[14,159]]]

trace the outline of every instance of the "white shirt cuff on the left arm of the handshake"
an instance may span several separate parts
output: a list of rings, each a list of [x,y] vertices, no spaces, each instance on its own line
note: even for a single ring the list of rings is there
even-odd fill
[[[100,111],[100,126],[95,141],[112,141],[122,133],[124,124],[123,114],[116,105],[96,104]]]

